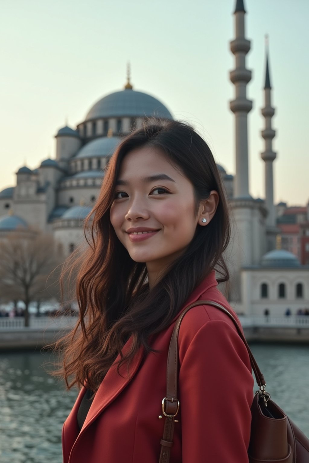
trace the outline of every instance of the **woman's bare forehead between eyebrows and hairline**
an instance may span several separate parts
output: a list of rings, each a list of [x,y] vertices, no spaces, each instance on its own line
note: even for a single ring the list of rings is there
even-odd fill
[[[142,146],[126,154],[120,164],[118,179],[137,179],[158,172],[170,175],[174,180],[183,178],[180,169],[170,162],[162,150],[152,146]]]

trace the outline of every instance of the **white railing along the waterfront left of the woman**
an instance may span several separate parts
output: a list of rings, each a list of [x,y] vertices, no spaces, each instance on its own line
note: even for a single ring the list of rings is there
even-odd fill
[[[25,327],[24,317],[0,317],[0,330],[57,330],[71,328],[77,317],[59,315],[58,317],[29,317],[29,327]]]

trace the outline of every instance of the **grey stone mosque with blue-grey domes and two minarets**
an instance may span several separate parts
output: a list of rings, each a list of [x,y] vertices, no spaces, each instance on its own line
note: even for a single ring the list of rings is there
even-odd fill
[[[309,307],[309,259],[303,265],[289,250],[278,249],[282,234],[278,215],[284,215],[286,205],[275,206],[273,200],[276,153],[272,150],[275,131],[271,118],[275,109],[271,106],[267,55],[262,108],[265,150],[261,153],[265,199],[249,194],[247,114],[252,101],[246,96],[246,85],[251,80],[246,54],[251,44],[245,38],[245,15],[243,0],[237,0],[236,36],[230,42],[235,56],[235,69],[230,72],[235,86],[235,98],[230,101],[235,115],[235,175],[218,165],[233,222],[233,238],[226,252],[231,272],[227,296],[237,313],[262,315],[268,309],[271,315],[282,316],[287,308],[296,313]],[[97,199],[108,159],[121,137],[141,127],[149,117],[172,119],[160,100],[133,89],[128,71],[123,90],[95,102],[76,128],[66,125],[57,131],[55,159],[45,159],[34,170],[21,167],[16,172],[16,185],[0,192],[0,238],[16,230],[25,235],[41,230],[52,233],[64,254],[69,255],[83,239],[83,220]],[[309,242],[309,207],[305,208],[304,224]]]

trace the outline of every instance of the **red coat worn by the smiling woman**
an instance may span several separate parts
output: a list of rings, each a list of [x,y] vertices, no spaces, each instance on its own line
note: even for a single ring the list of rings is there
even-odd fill
[[[216,285],[213,271],[186,305],[208,299],[232,310]],[[126,367],[122,376],[114,366],[109,369],[79,432],[82,388],[63,425],[63,463],[158,463],[164,426],[158,416],[176,319],[156,336],[152,345],[159,353],[142,362],[139,352],[131,380]],[[179,423],[170,463],[247,463],[253,379],[248,353],[229,317],[212,306],[190,309],[179,332],[179,363]]]

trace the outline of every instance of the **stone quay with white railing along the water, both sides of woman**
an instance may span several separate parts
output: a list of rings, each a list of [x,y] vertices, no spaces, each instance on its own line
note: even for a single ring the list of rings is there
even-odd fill
[[[248,342],[292,342],[309,344],[309,316],[240,316]],[[23,317],[0,318],[0,350],[41,349],[68,332],[77,321],[70,316],[31,316],[25,327]]]

